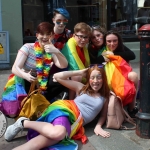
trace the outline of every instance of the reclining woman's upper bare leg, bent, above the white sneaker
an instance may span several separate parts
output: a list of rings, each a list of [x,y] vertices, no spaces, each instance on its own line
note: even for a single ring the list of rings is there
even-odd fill
[[[64,126],[53,125],[47,122],[24,120],[24,128],[33,129],[46,138],[56,141],[60,141],[66,136],[66,128]]]

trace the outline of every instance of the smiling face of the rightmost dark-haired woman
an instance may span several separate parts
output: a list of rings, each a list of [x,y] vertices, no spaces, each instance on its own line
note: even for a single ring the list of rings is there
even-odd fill
[[[112,52],[118,47],[118,37],[114,34],[109,34],[106,36],[106,45]]]

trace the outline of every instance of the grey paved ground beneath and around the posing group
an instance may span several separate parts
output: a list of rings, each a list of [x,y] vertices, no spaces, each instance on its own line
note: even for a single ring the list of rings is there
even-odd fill
[[[139,63],[131,63],[133,71],[139,75]],[[0,99],[3,87],[6,84],[7,78],[11,73],[10,70],[0,70]],[[140,75],[139,75],[140,76]],[[7,118],[8,125],[14,122],[13,119]],[[88,142],[79,144],[79,150],[150,150],[150,139],[143,139],[136,135],[135,130],[112,130],[106,129],[111,133],[110,138],[102,138],[96,136],[93,132],[96,122],[93,121],[85,126]],[[130,126],[128,123],[125,125]],[[26,133],[19,133],[12,142],[6,142],[3,137],[0,138],[0,150],[11,150],[12,148],[26,142]]]

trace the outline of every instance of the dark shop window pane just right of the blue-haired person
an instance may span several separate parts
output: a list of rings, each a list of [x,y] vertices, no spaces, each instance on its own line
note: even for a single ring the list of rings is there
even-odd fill
[[[99,24],[107,28],[107,1],[102,0],[66,0],[66,9],[70,13],[68,28],[73,31],[78,22],[90,26]]]

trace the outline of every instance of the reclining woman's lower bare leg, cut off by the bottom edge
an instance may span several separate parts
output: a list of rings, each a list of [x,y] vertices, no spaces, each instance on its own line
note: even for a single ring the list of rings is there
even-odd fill
[[[40,150],[44,147],[54,145],[58,142],[59,141],[46,138],[43,135],[39,135],[39,136],[31,139],[27,143],[14,148],[13,150]]]

